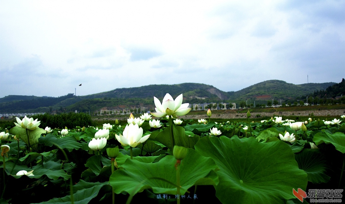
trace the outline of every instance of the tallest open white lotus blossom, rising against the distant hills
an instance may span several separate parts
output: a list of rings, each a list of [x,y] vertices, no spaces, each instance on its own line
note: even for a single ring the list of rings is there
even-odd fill
[[[165,94],[162,103],[154,97],[156,113],[151,113],[155,117],[164,117],[171,115],[177,118],[177,116],[186,115],[191,108],[188,107],[189,103],[182,104],[182,93],[174,100],[169,93]]]

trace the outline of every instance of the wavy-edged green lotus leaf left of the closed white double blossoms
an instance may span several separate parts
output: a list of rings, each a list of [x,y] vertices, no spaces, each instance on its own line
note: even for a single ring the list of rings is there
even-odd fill
[[[56,138],[54,135],[48,134],[46,137],[40,137],[39,143],[49,147],[55,145],[62,149],[66,148],[69,152],[71,152],[73,149],[82,148],[82,145],[78,143],[77,139],[73,136]]]

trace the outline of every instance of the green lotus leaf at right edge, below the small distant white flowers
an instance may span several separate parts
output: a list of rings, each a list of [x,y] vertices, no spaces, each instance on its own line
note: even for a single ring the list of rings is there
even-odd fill
[[[322,130],[322,133],[317,133],[313,141],[316,145],[319,145],[321,143],[326,144],[332,144],[334,145],[335,149],[345,153],[345,134],[341,132],[336,132],[333,134],[327,133],[324,130]]]

